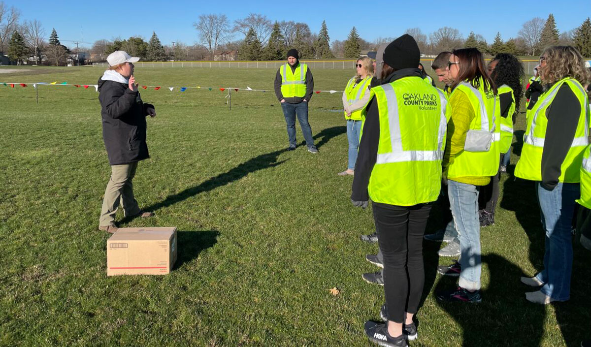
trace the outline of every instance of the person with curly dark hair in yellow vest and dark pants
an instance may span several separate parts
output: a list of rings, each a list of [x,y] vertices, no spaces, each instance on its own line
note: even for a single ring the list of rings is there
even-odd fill
[[[499,173],[492,176],[491,183],[480,191],[480,227],[495,224],[495,208],[499,199],[499,176],[506,172],[511,157],[513,142],[513,125],[519,112],[519,104],[523,96],[522,77],[523,65],[515,55],[497,54],[488,64],[488,73],[498,86],[499,103],[501,105],[501,165]]]

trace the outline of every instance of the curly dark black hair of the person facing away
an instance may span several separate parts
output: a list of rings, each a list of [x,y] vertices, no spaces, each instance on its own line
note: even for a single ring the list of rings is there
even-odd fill
[[[495,55],[492,61],[495,60],[498,63],[496,63],[495,70],[491,73],[492,80],[495,81],[498,87],[503,84],[511,87],[515,97],[515,110],[519,111],[519,103],[523,96],[523,78],[525,76],[523,65],[515,55],[508,53]]]

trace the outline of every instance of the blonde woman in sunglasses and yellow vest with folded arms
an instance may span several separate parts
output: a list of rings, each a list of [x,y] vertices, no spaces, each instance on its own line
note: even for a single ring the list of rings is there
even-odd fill
[[[368,57],[359,58],[355,62],[356,74],[353,76],[345,91],[343,91],[343,108],[347,122],[347,140],[349,141],[349,165],[339,176],[353,175],[357,161],[357,149],[361,138],[363,122],[361,111],[369,101],[369,84],[374,77],[374,65]]]

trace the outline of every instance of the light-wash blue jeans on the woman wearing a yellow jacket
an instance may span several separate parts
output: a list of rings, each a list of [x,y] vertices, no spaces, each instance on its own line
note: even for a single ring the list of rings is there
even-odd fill
[[[452,207],[453,222],[460,234],[460,287],[480,289],[480,221],[478,218],[478,194],[480,187],[462,182],[447,181],[447,192]]]

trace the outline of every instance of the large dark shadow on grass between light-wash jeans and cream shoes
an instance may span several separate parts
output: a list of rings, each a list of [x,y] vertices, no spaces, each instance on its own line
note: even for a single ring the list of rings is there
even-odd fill
[[[519,283],[519,266],[498,254],[482,256],[490,283],[482,289],[482,303],[437,304],[462,327],[462,346],[540,346],[544,335],[545,307],[525,300],[528,289]],[[436,292],[456,287],[456,277],[442,277]]]

